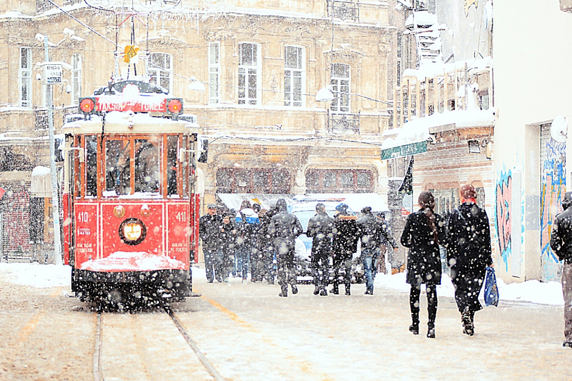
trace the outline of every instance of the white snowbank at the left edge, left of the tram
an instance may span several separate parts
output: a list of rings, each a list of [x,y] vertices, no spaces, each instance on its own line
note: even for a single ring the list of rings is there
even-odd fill
[[[72,268],[54,264],[0,263],[0,277],[10,283],[37,288],[62,287],[70,284]]]

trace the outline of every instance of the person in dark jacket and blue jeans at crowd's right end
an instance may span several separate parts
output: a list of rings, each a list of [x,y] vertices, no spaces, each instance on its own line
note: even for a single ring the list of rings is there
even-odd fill
[[[387,225],[383,224],[378,217],[371,212],[371,207],[362,209],[362,218],[358,220],[358,229],[362,240],[362,261],[364,275],[366,276],[366,295],[374,295],[374,278],[378,269],[380,257],[380,245],[382,239],[397,249],[395,240],[387,231]],[[384,253],[385,259],[385,253]]]

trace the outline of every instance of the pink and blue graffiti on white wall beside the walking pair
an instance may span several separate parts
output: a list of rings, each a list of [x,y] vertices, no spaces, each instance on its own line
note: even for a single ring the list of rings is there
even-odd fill
[[[513,179],[511,172],[503,172],[496,184],[495,224],[501,257],[508,271],[509,255],[511,252],[511,202]]]

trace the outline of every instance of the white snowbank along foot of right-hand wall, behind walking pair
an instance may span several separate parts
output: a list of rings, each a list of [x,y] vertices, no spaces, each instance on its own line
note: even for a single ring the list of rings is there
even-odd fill
[[[405,273],[395,275],[378,274],[375,276],[375,287],[386,287],[409,292],[410,285],[406,283],[405,277]],[[505,284],[502,279],[497,278],[496,285],[498,286],[501,300],[530,301],[538,304],[564,304],[562,285],[555,281],[542,283],[538,280],[527,280],[522,283]],[[483,299],[483,289],[480,291],[480,299]],[[441,277],[441,284],[437,287],[437,295],[445,297],[455,296],[455,288],[447,274],[443,274]]]

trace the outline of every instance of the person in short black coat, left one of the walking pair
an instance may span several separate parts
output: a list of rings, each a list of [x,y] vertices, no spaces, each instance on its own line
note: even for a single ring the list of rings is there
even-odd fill
[[[441,284],[441,259],[439,243],[446,240],[441,216],[433,212],[435,198],[431,192],[419,195],[419,211],[407,216],[401,235],[401,244],[409,248],[407,253],[407,283],[411,284],[409,304],[412,324],[409,330],[419,335],[419,296],[421,285],[427,291],[427,337],[435,338],[437,315],[437,285]]]

